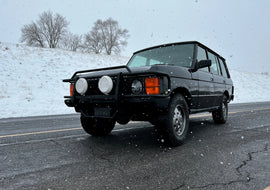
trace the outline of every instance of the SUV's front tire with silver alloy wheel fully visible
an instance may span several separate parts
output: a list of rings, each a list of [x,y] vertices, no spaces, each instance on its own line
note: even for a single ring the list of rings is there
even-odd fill
[[[189,111],[187,102],[181,94],[176,94],[172,98],[164,127],[164,136],[170,145],[183,144],[189,128]]]

